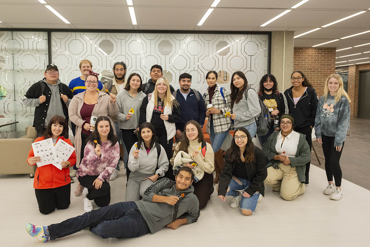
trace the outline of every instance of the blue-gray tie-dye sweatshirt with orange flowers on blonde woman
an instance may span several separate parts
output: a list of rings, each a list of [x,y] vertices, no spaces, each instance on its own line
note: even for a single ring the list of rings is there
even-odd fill
[[[322,135],[332,136],[334,146],[341,147],[349,130],[350,108],[348,99],[342,95],[339,102],[335,102],[335,96],[327,95],[319,99],[315,118],[316,138]]]

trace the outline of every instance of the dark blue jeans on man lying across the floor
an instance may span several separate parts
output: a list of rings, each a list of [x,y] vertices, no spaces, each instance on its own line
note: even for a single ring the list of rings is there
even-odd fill
[[[102,238],[132,238],[150,232],[135,202],[119,202],[48,226],[50,240],[90,227]]]

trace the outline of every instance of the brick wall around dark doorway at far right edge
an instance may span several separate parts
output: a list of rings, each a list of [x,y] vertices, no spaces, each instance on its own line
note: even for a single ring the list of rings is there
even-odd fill
[[[357,104],[359,97],[359,74],[361,70],[370,70],[369,64],[350,65],[348,68],[348,96],[351,99],[349,103],[351,116],[357,117]]]

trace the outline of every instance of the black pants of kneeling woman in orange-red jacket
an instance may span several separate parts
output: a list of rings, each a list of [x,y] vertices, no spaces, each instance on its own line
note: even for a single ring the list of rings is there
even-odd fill
[[[55,209],[66,209],[71,204],[71,184],[53,189],[35,189],[38,210],[50,214]]]

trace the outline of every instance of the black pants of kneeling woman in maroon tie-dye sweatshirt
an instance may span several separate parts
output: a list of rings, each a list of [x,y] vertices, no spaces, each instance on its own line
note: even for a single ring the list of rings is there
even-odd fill
[[[111,202],[111,186],[107,181],[104,181],[101,188],[95,189],[95,185],[92,185],[92,183],[94,183],[97,178],[98,176],[85,175],[83,177],[78,177],[78,182],[88,189],[89,193],[86,196],[87,199],[94,200],[95,204],[99,207],[105,207]]]

